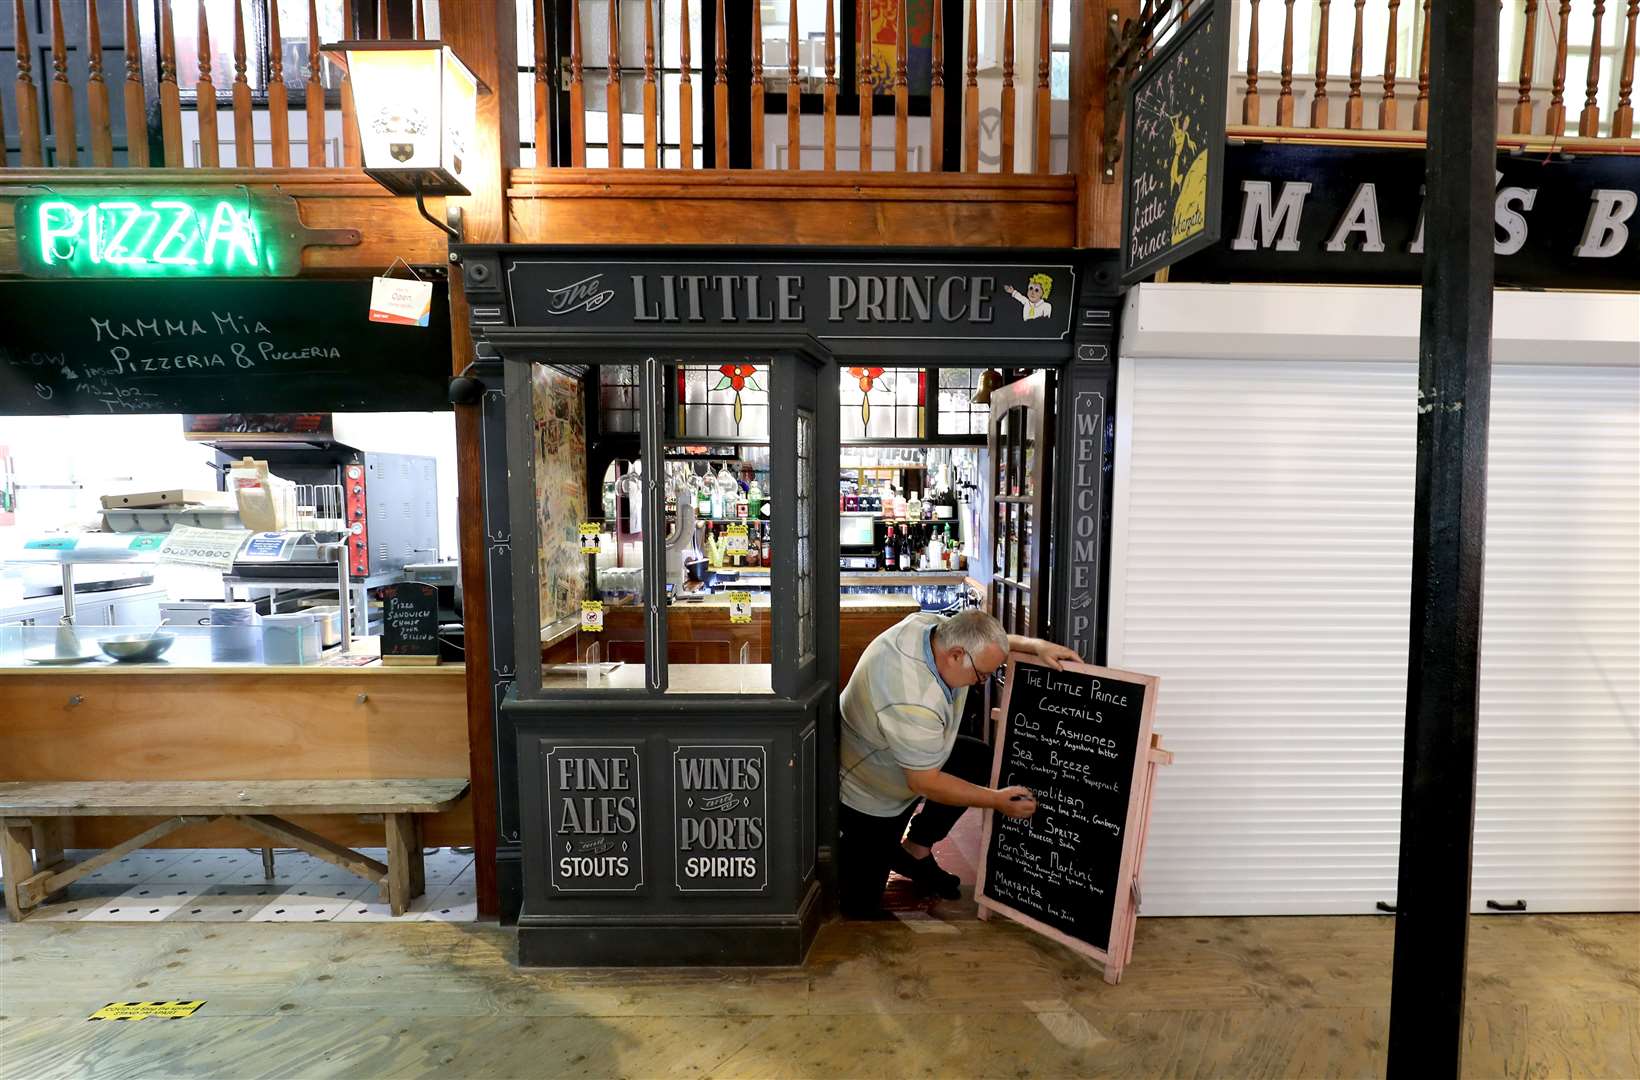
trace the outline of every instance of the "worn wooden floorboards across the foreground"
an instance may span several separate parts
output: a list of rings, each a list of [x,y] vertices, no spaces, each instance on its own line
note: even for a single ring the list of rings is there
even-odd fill
[[[0,1077],[1381,1077],[1387,918],[1141,919],[1118,987],[1007,923],[802,969],[518,970],[494,924],[0,926]],[[203,998],[189,1019],[89,1023]],[[1640,1077],[1640,916],[1476,918],[1466,1073]]]

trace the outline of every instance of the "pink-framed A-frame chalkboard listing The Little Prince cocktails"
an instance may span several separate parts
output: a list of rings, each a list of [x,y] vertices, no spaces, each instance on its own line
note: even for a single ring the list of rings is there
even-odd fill
[[[1036,795],[1032,818],[986,815],[974,900],[1104,962],[1122,978],[1133,954],[1138,872],[1156,765],[1155,675],[1009,657],[992,787]]]

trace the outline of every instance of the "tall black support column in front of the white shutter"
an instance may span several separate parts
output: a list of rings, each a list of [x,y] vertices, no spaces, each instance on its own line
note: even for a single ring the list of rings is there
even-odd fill
[[[1460,1070],[1486,565],[1497,3],[1440,3],[1432,21],[1391,1077]]]

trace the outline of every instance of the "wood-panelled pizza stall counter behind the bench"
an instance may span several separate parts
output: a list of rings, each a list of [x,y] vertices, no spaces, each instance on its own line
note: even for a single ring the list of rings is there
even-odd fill
[[[28,628],[34,629],[34,628]],[[41,636],[44,634],[44,638]],[[0,780],[376,780],[466,778],[461,664],[382,665],[379,641],[317,664],[225,664],[177,634],[156,662],[30,662],[52,654],[54,628],[0,628]],[[169,633],[169,631],[167,631]],[[95,651],[95,642],[89,642]],[[297,818],[341,844],[379,846],[380,824]],[[144,818],[77,818],[71,846],[108,847]],[[464,798],[428,815],[428,846],[471,844]],[[174,847],[262,847],[223,823],[157,841]]]

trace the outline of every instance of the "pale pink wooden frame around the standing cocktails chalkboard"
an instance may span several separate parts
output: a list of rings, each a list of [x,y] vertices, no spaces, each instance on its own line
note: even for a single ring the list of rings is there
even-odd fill
[[[1007,742],[1009,698],[1014,693],[1015,667],[1022,662],[1041,667],[1041,664],[1036,664],[1036,659],[1032,656],[1018,652],[1009,656],[1007,688],[1002,692],[1002,706],[997,710],[997,715],[994,715],[995,754],[991,762],[991,787],[997,787],[1002,778],[1002,747]],[[1138,928],[1138,875],[1145,857],[1145,837],[1150,831],[1150,796],[1156,780],[1156,767],[1173,762],[1173,754],[1161,749],[1161,736],[1151,733],[1151,721],[1156,713],[1156,693],[1161,688],[1161,678],[1156,675],[1125,672],[1114,667],[1094,667],[1091,664],[1064,664],[1063,669],[1081,675],[1114,678],[1145,687],[1145,706],[1140,710],[1140,729],[1133,752],[1133,777],[1128,782],[1127,821],[1123,823],[1122,831],[1122,864],[1117,870],[1117,895],[1110,913],[1110,936],[1107,937],[1110,947],[1099,949],[986,895],[986,859],[991,854],[994,813],[987,813],[984,816],[984,826],[979,834],[979,870],[974,878],[974,901],[979,905],[979,918],[987,919],[992,911],[1005,914],[1015,923],[1028,926],[1038,934],[1058,941],[1066,949],[1074,949],[1082,955],[1102,962],[1105,969],[1105,982],[1117,983],[1122,980],[1122,969],[1133,959],[1133,933]]]

